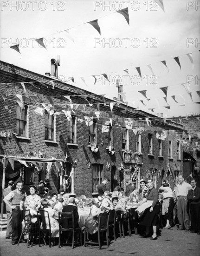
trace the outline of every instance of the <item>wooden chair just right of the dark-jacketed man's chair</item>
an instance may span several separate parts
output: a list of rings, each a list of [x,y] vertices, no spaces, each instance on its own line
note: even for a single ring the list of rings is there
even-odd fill
[[[109,220],[108,220],[108,212],[103,212],[100,213],[97,219],[97,223],[98,223],[98,243],[92,243],[92,244],[98,244],[98,249],[101,249],[102,244],[101,244],[101,234],[103,232],[106,233],[106,242],[107,242],[107,246],[109,247],[109,232],[108,232],[108,225],[109,225]],[[91,243],[86,242],[86,236],[88,236],[88,229],[85,227],[84,229],[84,246],[86,246],[86,244]]]

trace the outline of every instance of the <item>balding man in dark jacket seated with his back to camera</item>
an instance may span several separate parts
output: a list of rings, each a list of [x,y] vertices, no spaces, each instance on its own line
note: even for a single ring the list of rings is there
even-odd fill
[[[79,224],[78,224],[78,221],[79,221],[78,208],[75,205],[74,197],[71,197],[69,199],[69,204],[65,205],[63,207],[63,211],[62,212],[73,212],[74,213],[74,225],[75,225],[75,228],[79,227]],[[70,221],[68,222],[67,220],[64,220],[64,222],[62,224],[62,227],[66,228],[66,229],[71,228],[72,227],[72,223]],[[78,242],[78,237],[79,237],[79,232],[75,232],[75,239],[74,239],[75,241],[74,241],[74,243]],[[66,232],[65,233],[63,232],[63,241],[67,240],[67,242],[71,242],[70,241],[71,238],[72,238],[72,232],[69,232],[68,238],[67,238]]]

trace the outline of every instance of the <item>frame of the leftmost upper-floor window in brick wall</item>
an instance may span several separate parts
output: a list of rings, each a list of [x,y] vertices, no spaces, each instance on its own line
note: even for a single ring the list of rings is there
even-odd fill
[[[17,137],[28,137],[28,105],[25,103],[24,104],[25,108],[21,108],[19,104],[17,103],[17,108],[16,108],[16,130],[17,130]],[[20,110],[20,111],[18,111]],[[22,119],[22,111],[25,111],[24,116],[25,119]],[[22,130],[23,134],[20,133],[20,123],[22,123]],[[25,128],[23,128],[23,125]]]

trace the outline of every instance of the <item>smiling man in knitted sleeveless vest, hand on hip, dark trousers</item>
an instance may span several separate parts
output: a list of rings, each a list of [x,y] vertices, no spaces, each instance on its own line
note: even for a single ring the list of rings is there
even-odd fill
[[[12,244],[18,243],[23,220],[23,211],[20,210],[20,202],[26,198],[26,192],[22,190],[23,182],[17,182],[16,189],[4,197],[4,202],[12,209]]]

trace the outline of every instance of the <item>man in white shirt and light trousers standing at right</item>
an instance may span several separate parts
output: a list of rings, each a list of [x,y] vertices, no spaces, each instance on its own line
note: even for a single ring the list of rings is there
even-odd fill
[[[192,188],[190,184],[184,182],[183,176],[178,176],[179,183],[176,188],[177,201],[177,215],[180,224],[179,230],[185,228],[185,231],[189,231],[189,215],[187,213],[187,193]]]

